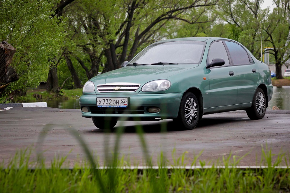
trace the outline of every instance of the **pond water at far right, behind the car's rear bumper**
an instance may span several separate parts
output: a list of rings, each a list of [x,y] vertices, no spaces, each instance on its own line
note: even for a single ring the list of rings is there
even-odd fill
[[[267,109],[277,106],[282,110],[290,110],[290,86],[274,87],[272,99],[269,101]]]

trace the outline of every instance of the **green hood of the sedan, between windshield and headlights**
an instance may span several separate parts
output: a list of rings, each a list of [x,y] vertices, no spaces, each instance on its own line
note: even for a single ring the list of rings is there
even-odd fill
[[[130,82],[145,84],[149,81],[166,79],[169,76],[181,71],[195,68],[198,65],[148,65],[148,66],[127,66],[100,74],[90,81],[96,84],[106,84],[115,82]]]

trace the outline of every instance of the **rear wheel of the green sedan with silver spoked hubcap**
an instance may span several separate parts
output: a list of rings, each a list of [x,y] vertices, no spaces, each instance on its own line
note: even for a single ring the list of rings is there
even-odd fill
[[[266,112],[266,97],[264,91],[258,88],[255,92],[252,106],[246,110],[251,120],[263,119]]]

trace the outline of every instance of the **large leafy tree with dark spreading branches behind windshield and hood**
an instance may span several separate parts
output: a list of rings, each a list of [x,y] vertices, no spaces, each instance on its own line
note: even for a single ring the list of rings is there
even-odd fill
[[[69,6],[69,36],[79,49],[69,50],[88,78],[121,67],[148,44],[172,34],[174,21],[202,23],[218,0],[84,0]],[[76,11],[77,10],[77,11]],[[80,52],[82,50],[82,52]],[[84,57],[85,55],[85,57]]]

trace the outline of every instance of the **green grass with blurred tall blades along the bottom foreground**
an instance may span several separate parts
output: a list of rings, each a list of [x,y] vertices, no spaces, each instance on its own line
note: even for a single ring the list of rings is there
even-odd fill
[[[49,131],[40,134],[42,143]],[[160,153],[157,166],[153,166],[148,155],[142,128],[136,131],[140,137],[146,165],[132,167],[130,160],[119,157],[119,143],[124,127],[116,131],[115,148],[111,156],[100,166],[97,155],[93,155],[76,130],[71,134],[79,141],[87,157],[82,166],[66,167],[66,157],[55,157],[50,167],[45,164],[43,151],[38,151],[31,161],[31,148],[19,150],[10,162],[0,163],[0,193],[6,192],[290,192],[289,157],[272,154],[271,149],[261,148],[262,157],[258,167],[239,167],[240,160],[230,154],[221,162],[206,166],[193,158],[191,166],[185,163],[186,152],[174,158],[173,165]],[[107,131],[105,131],[107,132]],[[41,144],[38,144],[41,145]],[[107,148],[105,146],[105,148]],[[280,166],[283,164],[284,166]]]

